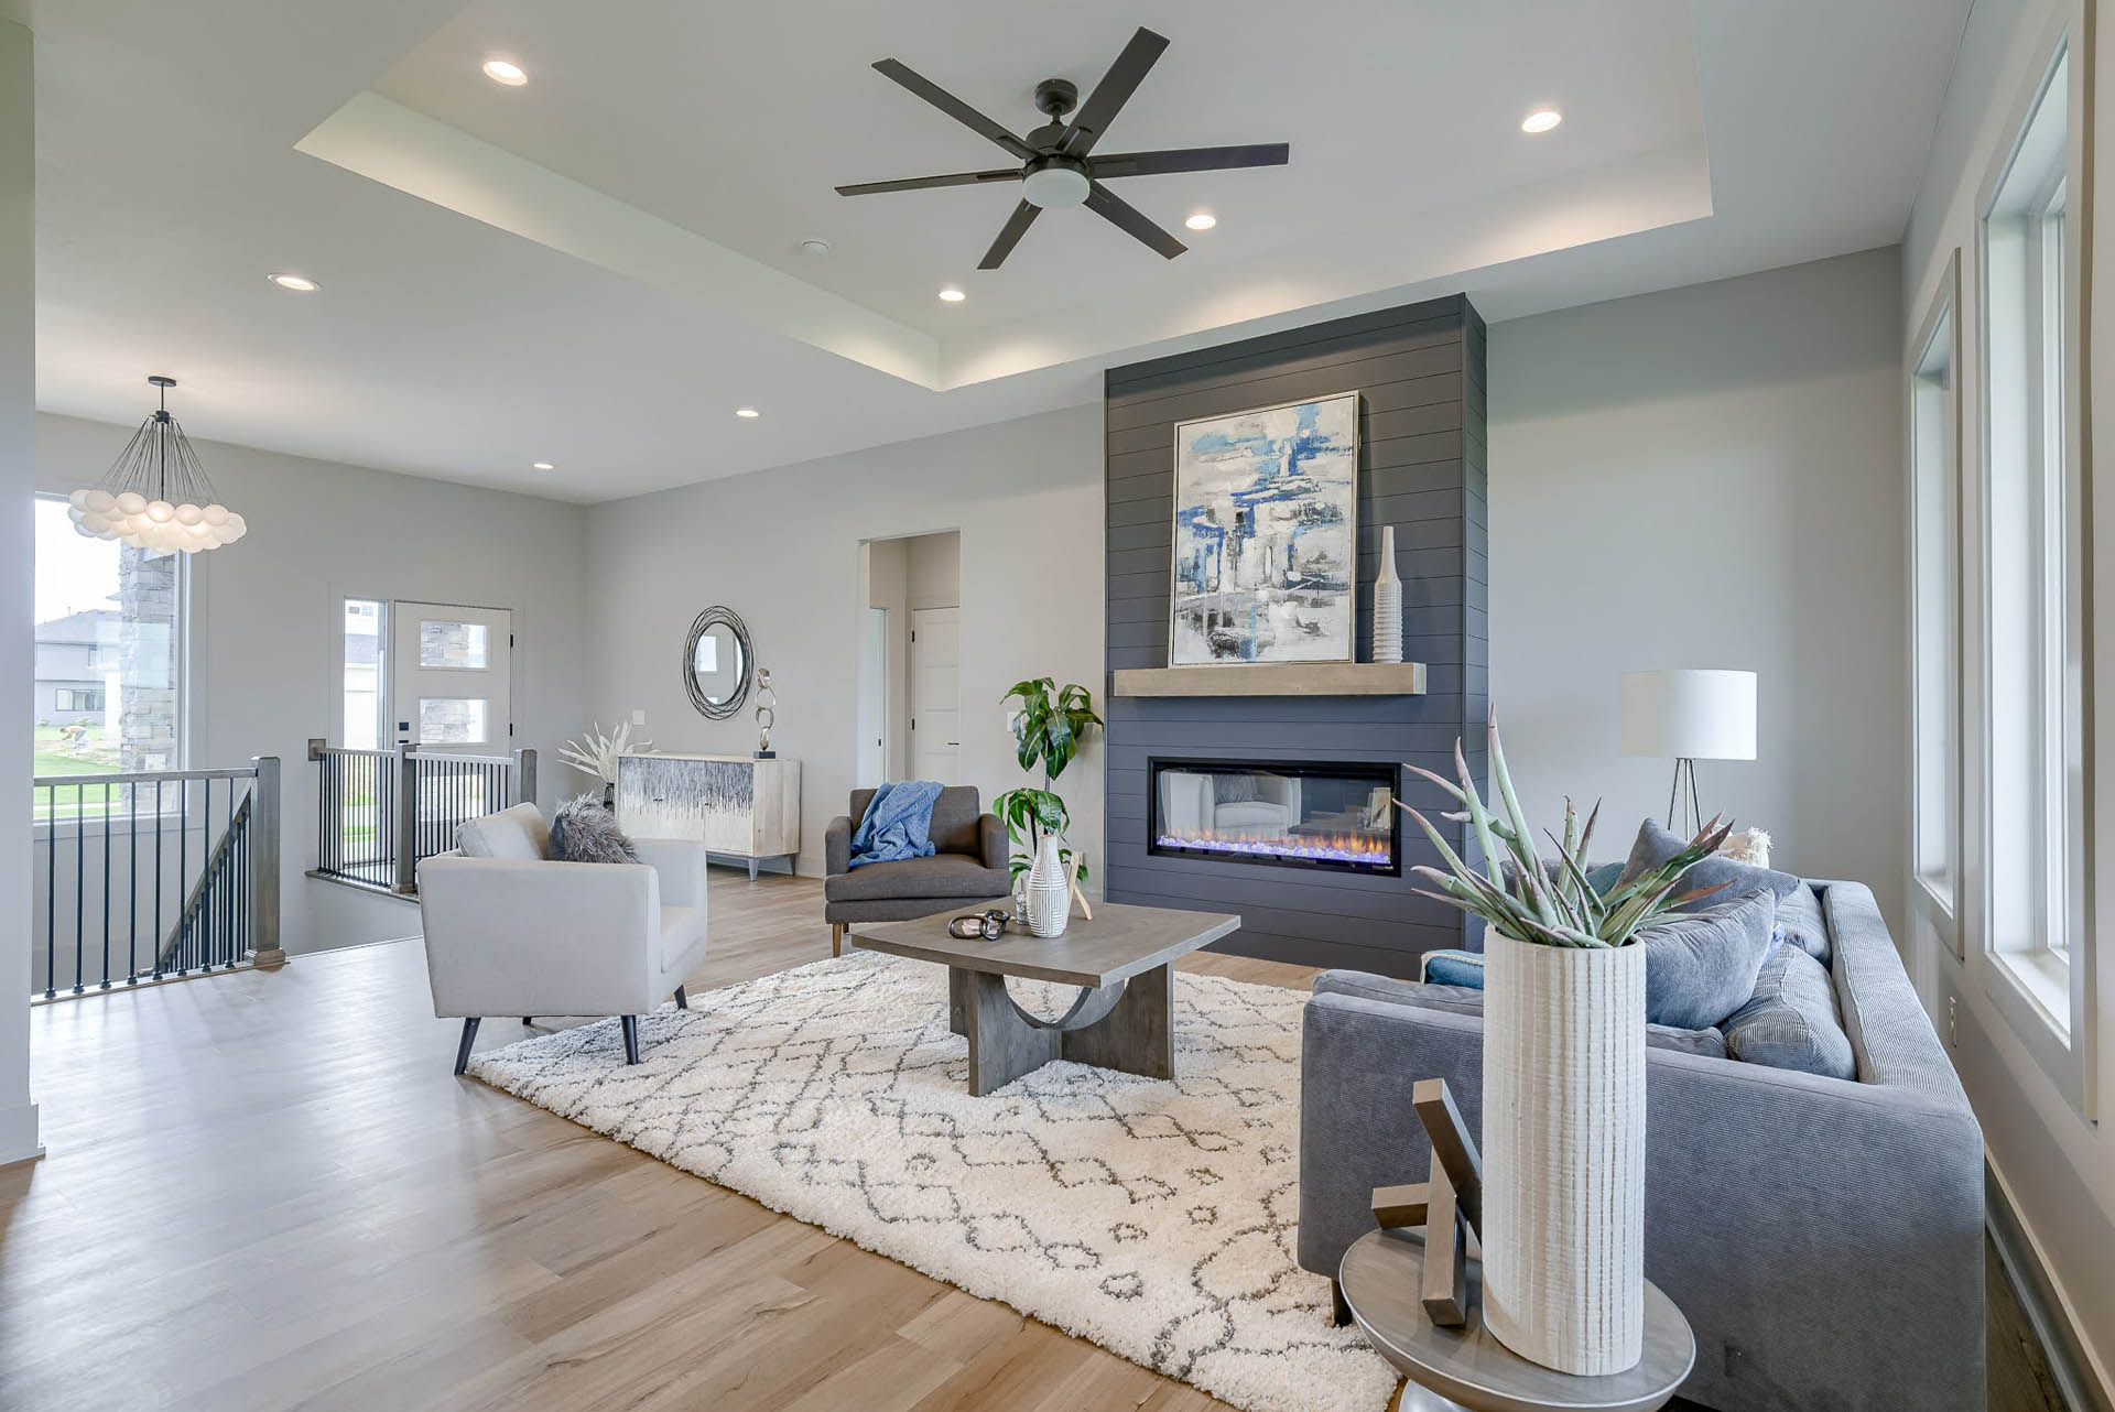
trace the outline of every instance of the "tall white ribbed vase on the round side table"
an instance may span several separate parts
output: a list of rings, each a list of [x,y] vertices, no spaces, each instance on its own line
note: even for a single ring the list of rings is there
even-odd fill
[[[1485,932],[1483,1321],[1599,1376],[1645,1338],[1645,949]]]

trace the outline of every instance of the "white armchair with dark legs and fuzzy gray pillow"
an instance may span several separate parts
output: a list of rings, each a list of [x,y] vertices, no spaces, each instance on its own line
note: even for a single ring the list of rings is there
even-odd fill
[[[704,843],[632,839],[641,862],[550,862],[535,805],[465,824],[419,862],[434,1015],[463,1021],[455,1072],[486,1015],[618,1015],[639,1063],[639,1015],[704,960]],[[474,856],[482,854],[482,856]]]

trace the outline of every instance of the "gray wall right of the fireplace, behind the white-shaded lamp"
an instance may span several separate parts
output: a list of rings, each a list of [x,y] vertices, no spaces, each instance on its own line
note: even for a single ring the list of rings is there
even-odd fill
[[[1904,507],[1897,252],[1491,328],[1491,653],[1523,803],[1601,801],[1599,858],[1667,814],[1616,748],[1616,676],[1758,672],[1758,755],[1705,812],[1901,917]]]

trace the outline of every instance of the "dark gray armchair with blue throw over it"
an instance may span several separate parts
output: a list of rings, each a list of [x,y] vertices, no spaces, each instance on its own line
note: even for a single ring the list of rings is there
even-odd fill
[[[986,814],[975,784],[950,784],[933,803],[931,858],[852,867],[852,831],[867,816],[871,788],[854,788],[846,814],[823,833],[823,917],[829,953],[844,951],[852,922],[903,922],[990,903],[1013,890],[1007,877],[1007,829]]]

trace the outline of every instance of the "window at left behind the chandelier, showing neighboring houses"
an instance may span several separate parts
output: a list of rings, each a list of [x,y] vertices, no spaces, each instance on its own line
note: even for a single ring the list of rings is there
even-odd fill
[[[34,514],[34,774],[180,767],[184,556],[85,539],[61,499],[38,497]],[[106,805],[87,791],[78,807]]]

